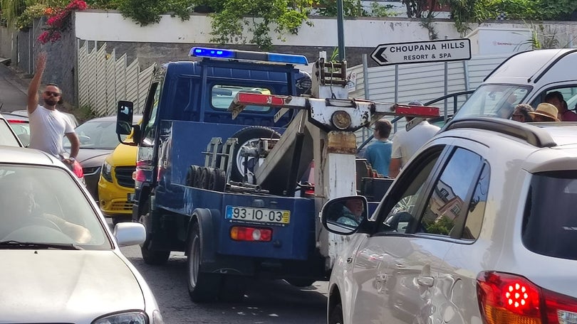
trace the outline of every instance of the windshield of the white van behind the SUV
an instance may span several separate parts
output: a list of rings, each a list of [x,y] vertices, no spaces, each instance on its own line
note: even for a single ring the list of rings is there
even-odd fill
[[[531,87],[482,85],[457,111],[453,119],[467,117],[509,118],[516,104],[523,102]]]

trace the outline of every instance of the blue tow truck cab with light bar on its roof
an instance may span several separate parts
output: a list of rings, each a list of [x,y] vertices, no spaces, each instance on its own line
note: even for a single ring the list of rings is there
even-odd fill
[[[236,54],[239,57],[234,60]],[[189,166],[204,164],[205,155],[201,152],[206,151],[212,137],[227,139],[246,126],[264,126],[276,133],[259,127],[241,134],[239,141],[271,134],[278,136],[283,131],[292,114],[275,121],[278,109],[269,107],[248,107],[236,119],[227,111],[239,91],[298,96],[310,90],[310,76],[291,64],[306,64],[305,57],[271,54],[269,58],[261,54],[192,48],[191,55],[204,60],[171,62],[157,68],[143,109],[138,139],[133,219],[138,220],[139,215],[143,215],[143,204],[160,178],[172,184],[185,184]],[[243,59],[268,60],[276,64]],[[169,144],[168,138],[175,141]],[[160,153],[168,148],[174,151],[172,156],[178,158],[170,163],[164,161],[160,168],[162,174],[158,174]],[[166,202],[165,207],[177,208],[170,202]]]

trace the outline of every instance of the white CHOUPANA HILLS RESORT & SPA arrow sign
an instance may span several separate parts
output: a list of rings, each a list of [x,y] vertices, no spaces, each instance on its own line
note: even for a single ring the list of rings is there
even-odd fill
[[[471,40],[458,38],[380,44],[370,57],[379,65],[470,60]]]

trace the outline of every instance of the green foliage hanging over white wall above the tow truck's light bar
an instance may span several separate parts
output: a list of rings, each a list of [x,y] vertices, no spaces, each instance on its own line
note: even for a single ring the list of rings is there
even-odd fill
[[[212,14],[212,42],[244,44],[247,32],[252,35],[249,43],[269,50],[272,47],[269,33],[274,32],[284,41],[284,35],[298,33],[303,22],[311,26],[308,10],[312,0],[214,1],[222,3],[222,10]]]

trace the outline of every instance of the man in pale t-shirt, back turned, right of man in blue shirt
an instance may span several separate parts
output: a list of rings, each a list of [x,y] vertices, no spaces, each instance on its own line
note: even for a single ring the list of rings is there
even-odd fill
[[[422,106],[421,102],[413,101],[409,102],[411,106]],[[413,117],[405,117],[408,121],[411,121]],[[438,126],[429,124],[428,121],[421,121],[419,124],[415,125],[410,131],[407,131],[405,127],[399,129],[395,136],[393,136],[393,152],[390,156],[389,164],[389,178],[396,178],[400,173],[400,169],[407,164],[407,161],[411,158],[415,152],[425,145],[428,140],[435,136],[440,130]]]

